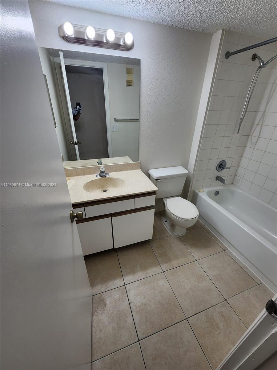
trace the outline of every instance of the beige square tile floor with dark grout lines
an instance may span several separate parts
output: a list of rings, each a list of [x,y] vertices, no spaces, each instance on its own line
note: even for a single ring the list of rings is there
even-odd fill
[[[85,262],[92,370],[215,370],[273,296],[203,224],[175,238],[159,214],[153,239]]]

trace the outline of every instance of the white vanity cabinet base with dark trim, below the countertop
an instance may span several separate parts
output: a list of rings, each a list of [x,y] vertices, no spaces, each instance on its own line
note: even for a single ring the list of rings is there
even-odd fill
[[[73,205],[83,255],[152,238],[155,192]]]

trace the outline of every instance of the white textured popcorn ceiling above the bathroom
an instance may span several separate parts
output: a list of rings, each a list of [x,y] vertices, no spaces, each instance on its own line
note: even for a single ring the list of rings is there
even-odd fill
[[[276,0],[44,0],[188,30],[277,36]]]

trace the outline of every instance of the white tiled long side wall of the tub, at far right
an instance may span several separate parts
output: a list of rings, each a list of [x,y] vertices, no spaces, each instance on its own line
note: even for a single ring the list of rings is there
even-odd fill
[[[277,208],[277,61],[269,67],[273,69],[233,183]]]

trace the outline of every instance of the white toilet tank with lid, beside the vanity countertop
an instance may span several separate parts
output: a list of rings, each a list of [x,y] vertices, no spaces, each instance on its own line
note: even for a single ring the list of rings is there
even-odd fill
[[[175,166],[150,169],[148,173],[158,188],[156,198],[168,198],[181,194],[188,171],[182,166]]]

